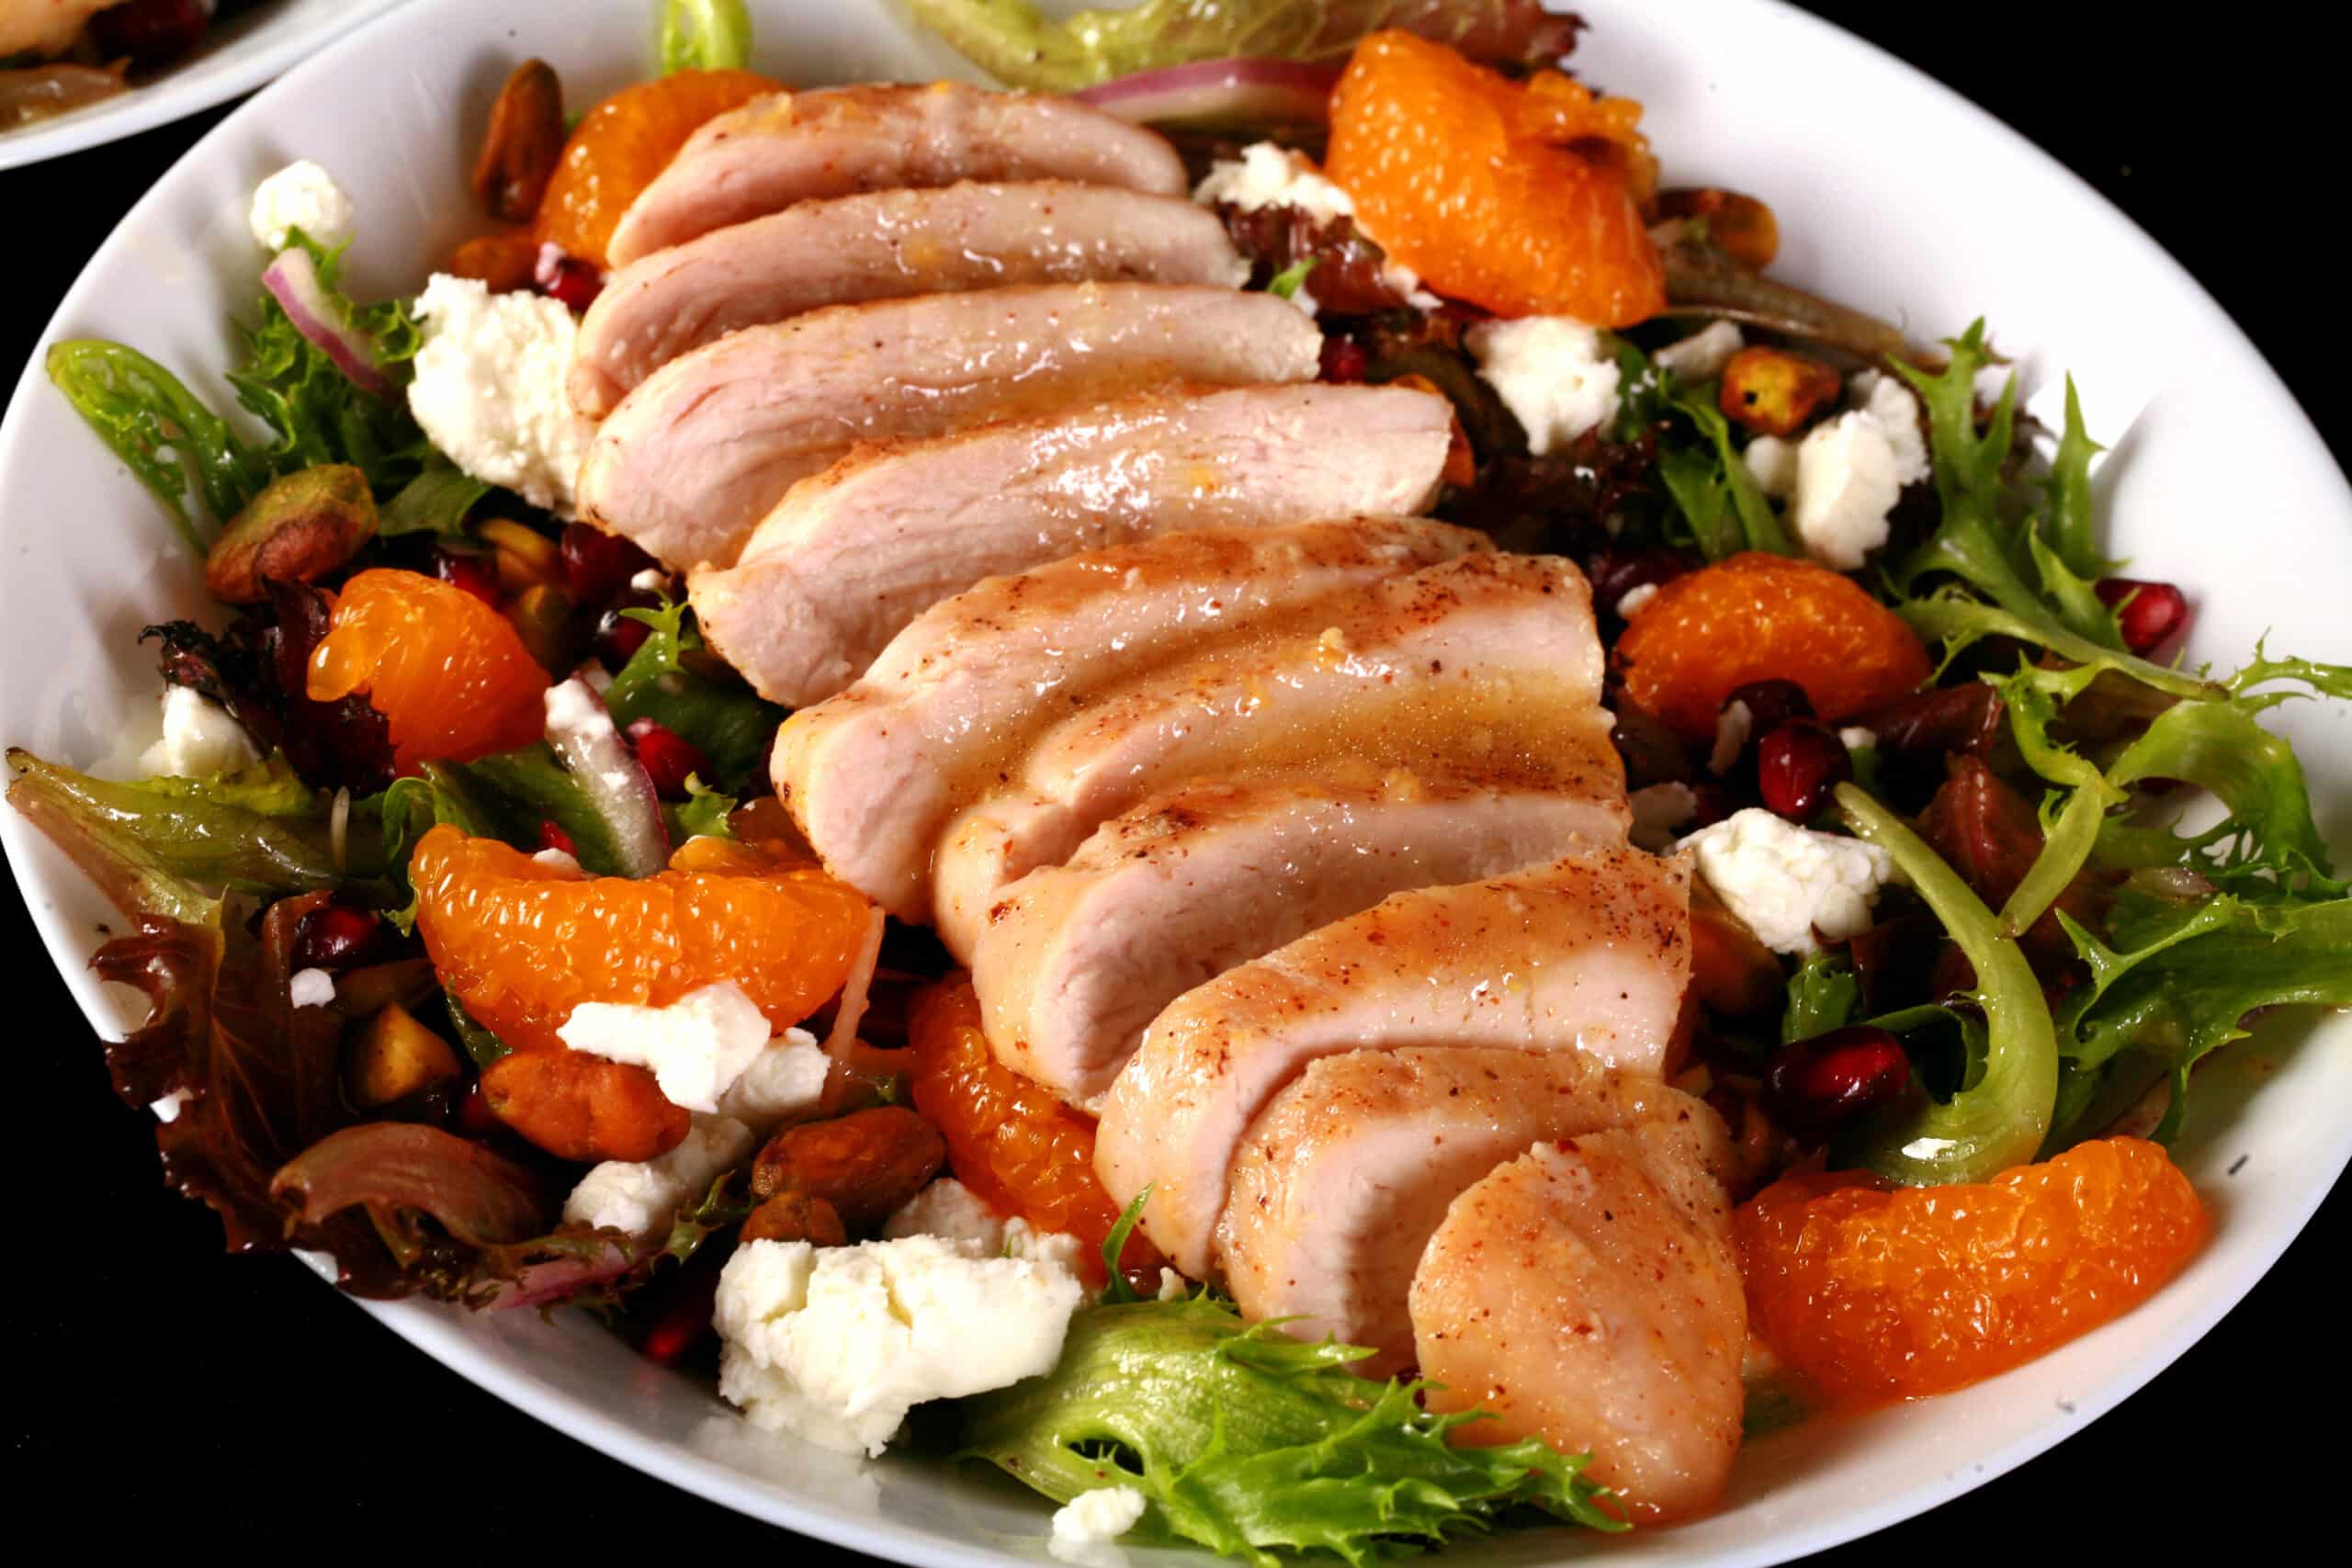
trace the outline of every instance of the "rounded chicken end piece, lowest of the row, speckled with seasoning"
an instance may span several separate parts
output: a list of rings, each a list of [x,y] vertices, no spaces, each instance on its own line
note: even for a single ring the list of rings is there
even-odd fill
[[[1538,1145],[1446,1211],[1414,1274],[1432,1410],[1463,1443],[1592,1453],[1637,1523],[1715,1505],[1740,1446],[1748,1302],[1731,1201],[1691,1121]]]

